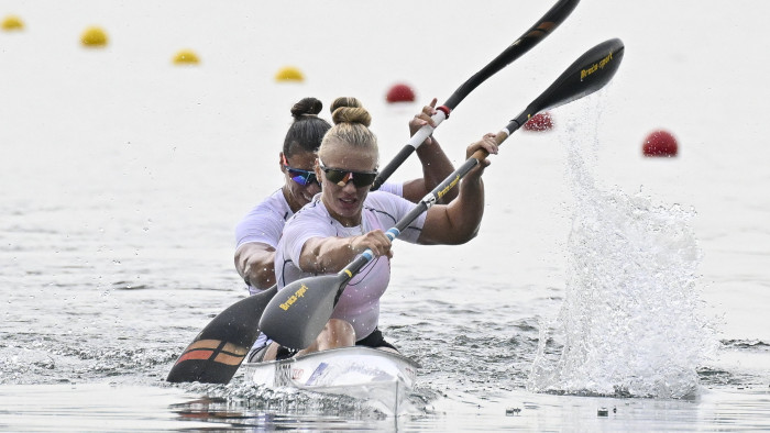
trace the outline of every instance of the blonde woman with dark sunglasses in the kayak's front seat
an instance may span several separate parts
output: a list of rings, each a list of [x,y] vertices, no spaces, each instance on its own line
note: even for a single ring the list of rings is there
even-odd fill
[[[375,258],[348,282],[331,319],[309,347],[297,352],[272,343],[255,360],[351,345],[396,351],[377,329],[380,298],[391,278],[391,241],[385,231],[415,204],[392,193],[370,191],[380,159],[376,137],[369,129],[372,118],[354,98],[340,98],[332,109],[334,126],[323,136],[315,167],[321,193],[284,227],[275,254],[278,288],[300,278],[336,274],[366,249]],[[466,157],[480,148],[496,154],[494,134],[471,144]],[[429,208],[398,238],[462,244],[475,237],[484,212],[481,176],[488,165],[487,159],[482,160],[463,177],[455,200]]]

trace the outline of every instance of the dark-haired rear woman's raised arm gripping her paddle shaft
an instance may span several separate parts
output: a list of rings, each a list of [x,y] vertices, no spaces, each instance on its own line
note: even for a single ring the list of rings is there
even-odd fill
[[[426,124],[436,126],[436,123],[431,119],[431,115],[436,114],[436,102],[437,99],[433,98],[430,106],[424,107],[422,112],[415,115],[409,122],[411,135],[415,135],[415,133]],[[413,203],[422,199],[454,171],[452,162],[449,160],[449,157],[447,157],[447,154],[444,154],[436,137],[429,136],[426,138],[415,152],[422,164],[422,178],[404,182],[404,198]],[[455,190],[449,191],[449,193],[441,199],[441,202],[448,203],[457,196],[458,192]]]

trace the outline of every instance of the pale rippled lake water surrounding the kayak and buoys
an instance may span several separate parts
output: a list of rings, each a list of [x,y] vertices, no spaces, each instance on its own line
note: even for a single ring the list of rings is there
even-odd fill
[[[424,366],[411,412],[164,381],[245,296],[233,229],[279,186],[295,101],[356,96],[389,160],[550,4],[4,1],[26,29],[0,32],[0,429],[770,429],[760,1],[583,1],[440,126],[460,164],[580,54],[626,44],[606,89],[492,158],[474,241],[395,246],[381,324]],[[107,48],[79,45],[94,24]],[[201,64],[173,66],[183,48]],[[306,80],[276,84],[286,65]],[[385,103],[397,81],[419,102]],[[659,127],[676,158],[641,156]]]

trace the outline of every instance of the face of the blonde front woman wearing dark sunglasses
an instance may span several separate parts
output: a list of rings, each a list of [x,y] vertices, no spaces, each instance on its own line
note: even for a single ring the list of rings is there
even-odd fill
[[[330,143],[324,147],[323,154],[319,155],[323,166],[316,166],[316,176],[321,179],[323,187],[321,195],[323,204],[331,216],[343,225],[353,226],[361,223],[361,210],[372,182],[356,187],[354,179],[356,174],[361,174],[360,178],[365,178],[363,174],[374,173],[377,168],[377,159],[376,148],[361,148],[348,143],[333,143],[333,145]],[[323,168],[330,171],[327,174]],[[339,178],[339,171],[346,171],[341,180],[329,179]]]

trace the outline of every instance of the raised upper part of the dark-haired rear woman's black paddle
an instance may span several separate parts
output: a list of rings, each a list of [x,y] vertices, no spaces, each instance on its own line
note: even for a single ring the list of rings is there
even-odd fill
[[[432,116],[436,126],[425,125],[420,127],[415,135],[411,136],[409,143],[407,143],[400,152],[391,160],[385,168],[383,168],[377,178],[374,179],[372,185],[372,190],[378,189],[387,178],[393,175],[393,173],[400,167],[402,164],[411,155],[417,147],[419,147],[422,142],[425,142],[430,134],[433,133],[436,127],[439,126],[441,122],[449,118],[449,114],[454,110],[458,104],[465,99],[465,97],[473,91],[479,85],[484,82],[487,78],[497,74],[501,69],[508,66],[515,59],[521,57],[531,47],[544,40],[556,27],[561,24],[566,16],[572,12],[578,5],[580,0],[559,0],[546,14],[532,25],[521,37],[514,41],[513,44],[508,45],[503,53],[495,57],[488,65],[484,66],[480,71],[477,71],[473,77],[469,78],[468,81],[463,82],[454,93],[452,93],[443,106],[437,108],[438,112]]]

